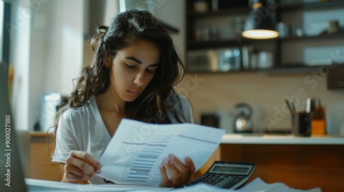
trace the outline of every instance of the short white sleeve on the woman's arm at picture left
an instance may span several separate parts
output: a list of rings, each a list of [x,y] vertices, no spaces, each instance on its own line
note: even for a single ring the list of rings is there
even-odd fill
[[[52,156],[53,162],[65,163],[65,159],[72,150],[80,150],[78,149],[73,129],[74,125],[69,118],[69,111],[67,110],[61,115],[58,121],[55,152]]]

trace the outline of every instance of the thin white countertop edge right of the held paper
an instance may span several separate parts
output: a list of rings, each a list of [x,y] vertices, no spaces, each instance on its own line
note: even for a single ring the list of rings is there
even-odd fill
[[[344,145],[344,136],[292,136],[274,134],[224,134],[222,144]]]

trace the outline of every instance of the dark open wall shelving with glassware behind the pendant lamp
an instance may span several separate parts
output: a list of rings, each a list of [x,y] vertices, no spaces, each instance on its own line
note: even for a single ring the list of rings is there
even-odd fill
[[[241,36],[243,21],[250,12],[248,1],[240,5],[230,5],[235,1],[228,1],[228,6],[213,10],[214,1],[203,0],[208,3],[205,12],[195,11],[197,1],[186,1],[186,69],[189,72],[310,72],[330,64],[344,64],[344,29],[341,27],[344,1],[276,1],[268,12],[276,23],[285,24],[286,35],[270,40]],[[330,21],[338,21],[338,32],[327,33]],[[282,25],[277,25],[277,29],[279,26]],[[219,67],[224,59],[215,55],[222,49],[240,51],[239,68],[223,70]],[[255,62],[246,64],[248,57]],[[261,64],[264,58],[270,61],[265,66]],[[211,62],[213,59],[217,62]],[[208,67],[204,67],[206,65]]]

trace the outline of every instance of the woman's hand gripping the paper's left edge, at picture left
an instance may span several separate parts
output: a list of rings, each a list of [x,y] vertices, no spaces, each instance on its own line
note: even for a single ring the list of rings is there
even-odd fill
[[[101,165],[93,156],[81,151],[72,151],[65,160],[62,182],[83,183],[100,173]]]

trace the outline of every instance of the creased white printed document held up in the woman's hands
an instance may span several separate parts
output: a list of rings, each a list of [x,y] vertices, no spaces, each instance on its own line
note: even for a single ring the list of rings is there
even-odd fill
[[[215,152],[224,130],[191,123],[151,124],[122,119],[99,163],[98,176],[116,184],[158,185],[163,158],[189,156],[196,171]]]

